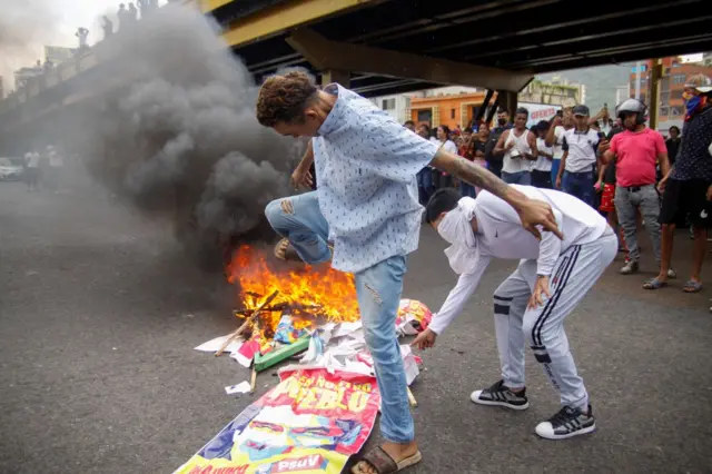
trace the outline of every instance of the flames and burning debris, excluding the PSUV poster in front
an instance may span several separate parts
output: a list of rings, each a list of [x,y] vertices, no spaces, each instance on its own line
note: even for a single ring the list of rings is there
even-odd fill
[[[241,307],[234,312],[239,327],[196,349],[216,356],[228,352],[245,367],[253,366],[254,374],[304,350],[301,364],[340,364],[358,354],[360,362],[369,357],[353,275],[328,266],[273,268],[261,250],[244,245],[235,251],[227,277],[240,292]],[[415,335],[431,318],[422,303],[402,299],[396,330]],[[329,350],[340,359],[326,355]]]

